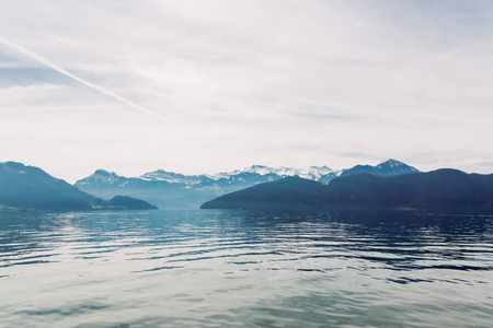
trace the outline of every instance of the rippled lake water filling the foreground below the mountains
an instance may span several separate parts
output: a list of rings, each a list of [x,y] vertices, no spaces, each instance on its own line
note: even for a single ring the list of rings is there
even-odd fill
[[[0,213],[0,327],[492,327],[493,216]]]

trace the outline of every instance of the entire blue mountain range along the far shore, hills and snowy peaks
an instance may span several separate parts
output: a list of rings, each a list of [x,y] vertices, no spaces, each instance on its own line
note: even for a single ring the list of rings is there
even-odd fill
[[[77,186],[107,195],[93,196]],[[122,195],[125,192],[145,196],[145,200]],[[254,165],[217,175],[154,171],[130,178],[99,169],[72,186],[38,167],[0,163],[2,211],[156,209],[148,202],[150,199],[162,201],[168,208],[198,208],[197,202],[203,200],[202,209],[493,213],[493,174],[449,168],[422,173],[389,160],[376,166],[356,165],[342,171],[326,166],[299,171]]]

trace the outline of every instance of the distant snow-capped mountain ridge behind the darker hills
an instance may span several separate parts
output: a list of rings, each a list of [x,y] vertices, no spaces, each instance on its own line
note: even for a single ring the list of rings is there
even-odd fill
[[[311,166],[306,169],[298,169],[284,166],[252,165],[241,171],[217,174],[183,175],[158,169],[139,177],[124,177],[113,172],[98,169],[94,174],[78,180],[74,186],[103,198],[126,195],[145,199],[160,208],[196,209],[203,202],[218,196],[288,176],[300,176],[326,184],[339,176],[358,173],[393,176],[414,172],[419,171],[395,160],[388,160],[376,166],[356,165],[352,168],[339,171],[328,166]]]

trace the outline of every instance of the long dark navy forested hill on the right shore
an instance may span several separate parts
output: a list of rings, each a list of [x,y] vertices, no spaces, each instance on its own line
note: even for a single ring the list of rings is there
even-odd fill
[[[493,213],[493,174],[437,169],[398,176],[355,174],[329,185],[300,177],[260,184],[200,209],[420,210]]]

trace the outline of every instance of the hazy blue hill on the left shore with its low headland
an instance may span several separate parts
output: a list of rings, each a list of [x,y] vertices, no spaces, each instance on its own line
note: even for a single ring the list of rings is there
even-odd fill
[[[135,199],[103,200],[57,179],[39,167],[16,162],[0,163],[0,208],[55,211],[156,209]]]

